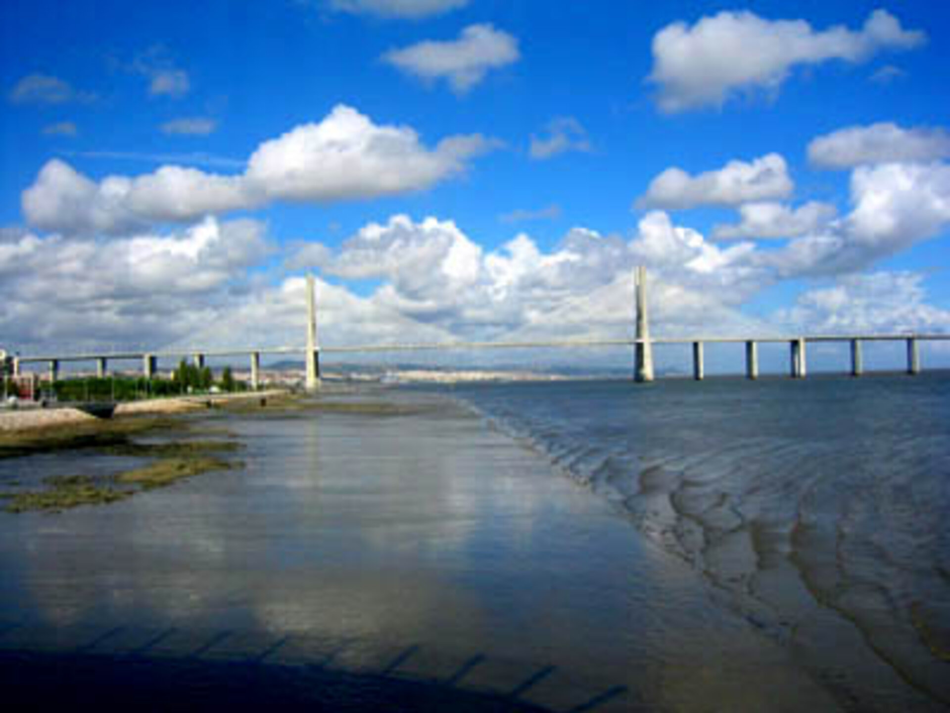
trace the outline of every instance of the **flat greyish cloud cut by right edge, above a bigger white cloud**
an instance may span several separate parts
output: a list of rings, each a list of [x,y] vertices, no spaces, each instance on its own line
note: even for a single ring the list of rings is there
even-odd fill
[[[942,128],[902,128],[890,122],[848,126],[808,145],[808,161],[821,168],[862,164],[929,162],[950,157],[950,133]]]

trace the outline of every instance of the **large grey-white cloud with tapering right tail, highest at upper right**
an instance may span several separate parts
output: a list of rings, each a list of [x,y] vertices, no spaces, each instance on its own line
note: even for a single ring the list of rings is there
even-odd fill
[[[723,11],[692,27],[676,22],[653,40],[649,81],[666,112],[722,106],[742,91],[775,91],[793,67],[828,60],[859,63],[885,49],[910,49],[926,39],[906,30],[886,10],[874,10],[860,30],[815,30],[804,20],[767,20],[746,11]]]

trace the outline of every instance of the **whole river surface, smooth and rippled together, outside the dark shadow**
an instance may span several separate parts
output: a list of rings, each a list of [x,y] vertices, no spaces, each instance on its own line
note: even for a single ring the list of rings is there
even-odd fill
[[[242,442],[243,469],[0,512],[0,673],[9,652],[65,651],[209,677],[316,665],[318,690],[369,674],[377,693],[437,681],[556,711],[948,699],[946,379],[320,399],[399,413],[202,415],[195,435]],[[0,460],[0,487],[128,465]]]

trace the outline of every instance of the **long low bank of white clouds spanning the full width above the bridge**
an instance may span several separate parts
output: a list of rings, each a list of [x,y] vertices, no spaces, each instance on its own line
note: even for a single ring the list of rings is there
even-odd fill
[[[742,312],[777,281],[822,275],[852,239],[845,232],[838,238],[837,253],[800,260],[799,253],[760,251],[751,242],[724,247],[655,211],[629,240],[576,227],[549,250],[518,234],[489,251],[454,222],[393,216],[364,226],[335,250],[298,244],[284,261],[344,282],[318,280],[324,345],[630,337],[637,264],[650,269],[658,336],[706,331],[710,323],[733,336],[788,324],[811,332],[950,329],[946,312],[928,306],[920,279],[901,274],[845,277],[765,322]],[[0,279],[12,296],[0,304],[0,332],[28,351],[57,339],[70,349],[93,342],[301,344],[303,280],[248,277],[248,267],[270,250],[263,227],[249,221],[208,219],[169,236],[111,241],[10,229],[0,240]],[[112,269],[103,271],[103,264]],[[376,286],[366,296],[345,284],[367,279]]]

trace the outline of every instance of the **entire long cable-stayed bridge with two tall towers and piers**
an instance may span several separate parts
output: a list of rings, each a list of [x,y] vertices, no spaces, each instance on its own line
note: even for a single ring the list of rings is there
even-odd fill
[[[766,337],[650,337],[647,312],[647,281],[645,268],[637,268],[637,337],[621,339],[553,339],[540,341],[455,341],[403,344],[364,344],[354,346],[320,347],[316,339],[316,305],[314,279],[307,279],[307,344],[306,346],[278,346],[271,348],[247,347],[239,349],[173,349],[152,352],[85,353],[73,355],[41,355],[5,357],[7,370],[20,376],[21,368],[29,363],[47,363],[50,380],[56,380],[63,362],[89,362],[96,364],[97,376],[104,377],[109,362],[138,361],[142,375],[151,378],[156,374],[159,359],[191,358],[199,367],[209,357],[248,357],[250,359],[251,387],[260,386],[260,357],[262,355],[303,355],[307,368],[307,388],[316,389],[320,383],[320,355],[331,354],[379,354],[399,352],[436,352],[471,350],[515,349],[597,349],[606,347],[631,347],[634,349],[634,376],[637,381],[653,381],[655,377],[653,347],[656,344],[692,344],[693,377],[705,378],[705,346],[707,344],[745,344],[745,374],[750,379],[759,376],[759,345],[769,343],[788,344],[789,374],[792,378],[807,376],[807,344],[840,342],[850,344],[850,375],[864,374],[864,342],[904,342],[906,345],[906,372],[917,375],[921,372],[920,343],[922,341],[950,340],[950,334],[869,334],[869,335],[795,335]]]

